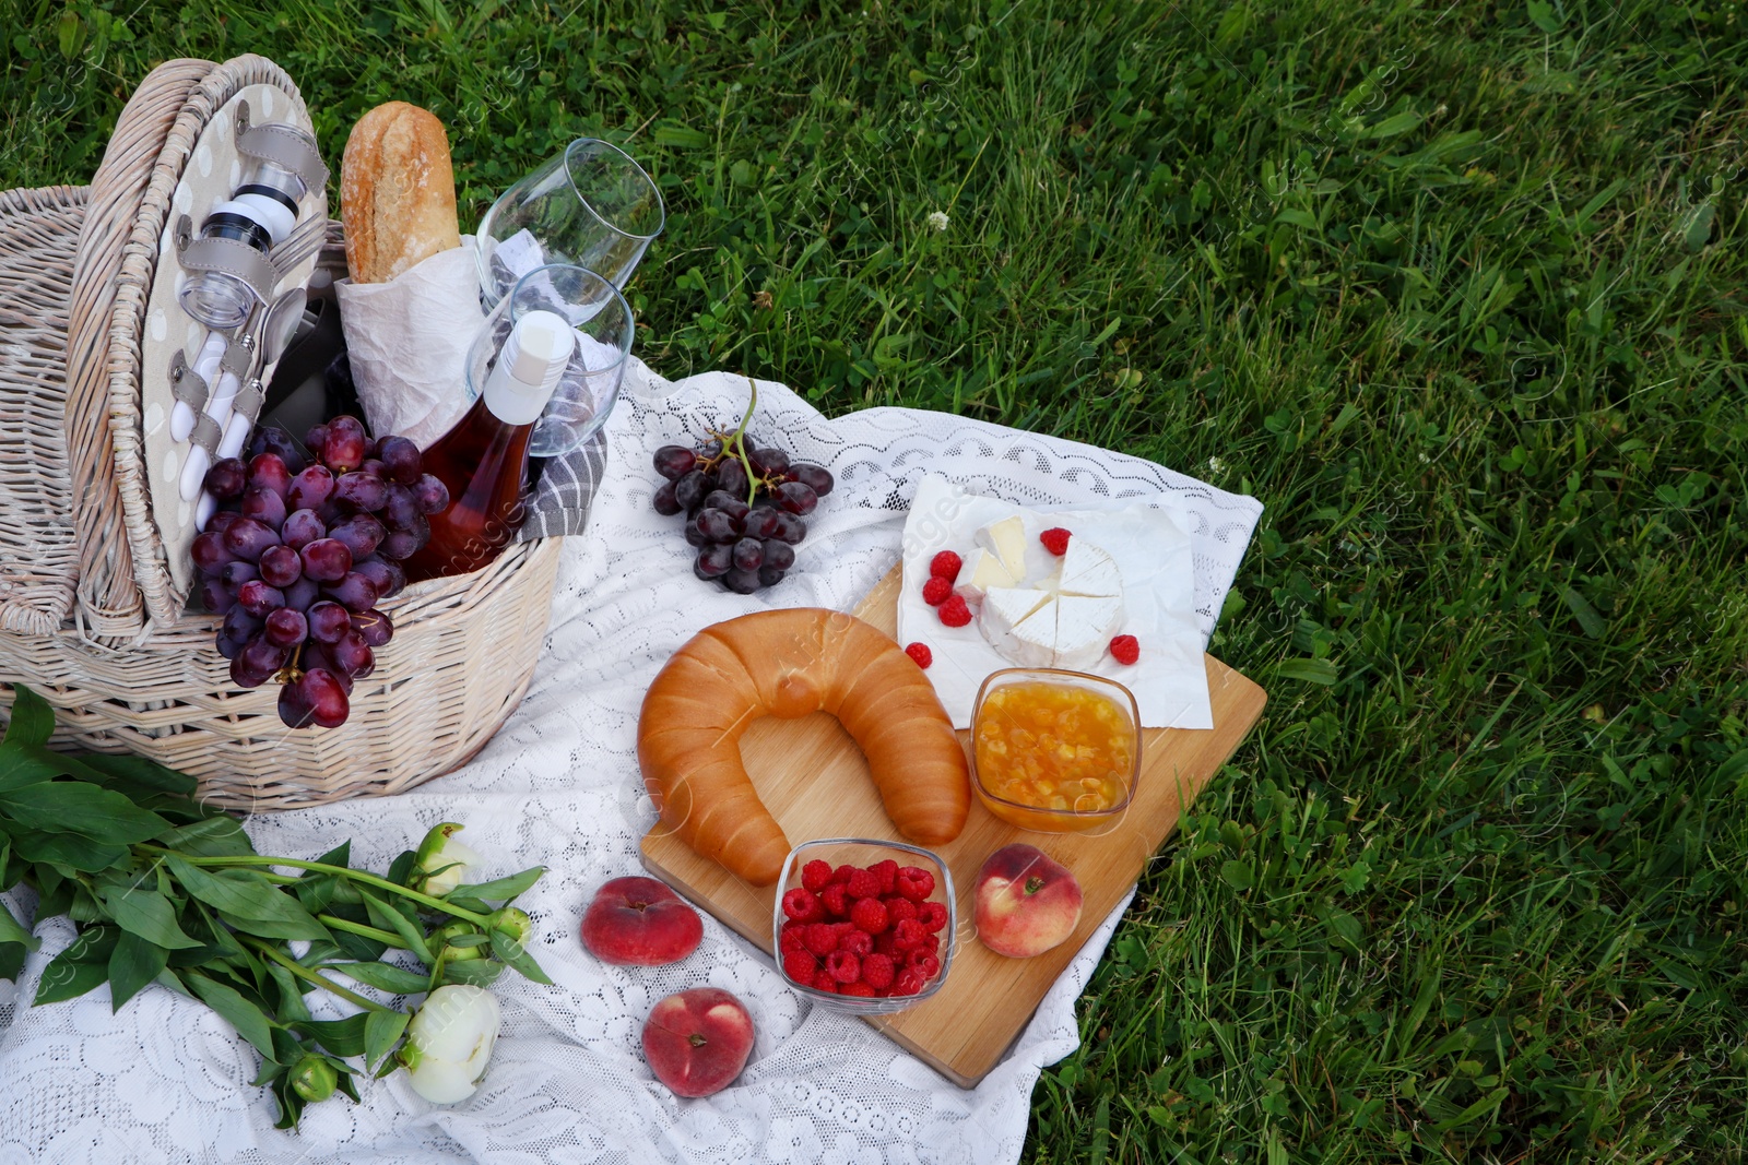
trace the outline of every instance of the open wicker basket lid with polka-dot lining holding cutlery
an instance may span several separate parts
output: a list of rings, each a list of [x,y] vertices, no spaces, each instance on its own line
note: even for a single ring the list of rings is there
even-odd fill
[[[142,101],[149,91],[152,100]],[[231,197],[243,168],[239,138],[267,122],[313,133],[297,86],[267,58],[171,61],[129,101],[93,182],[73,295],[96,300],[82,327],[98,334],[77,344],[77,372],[70,342],[66,428],[79,449],[79,611],[89,632],[105,639],[133,639],[152,624],[175,622],[198,582],[189,562],[198,507],[180,491],[194,445],[171,437],[170,416],[177,355],[192,367],[206,330],[177,302],[187,278],[178,234],[185,239],[189,224]],[[301,199],[297,217],[299,232],[313,224],[320,241],[325,173]],[[309,278],[315,250],[273,271],[276,293]],[[257,376],[266,381],[271,372],[267,365]],[[201,435],[212,442],[210,428]]]

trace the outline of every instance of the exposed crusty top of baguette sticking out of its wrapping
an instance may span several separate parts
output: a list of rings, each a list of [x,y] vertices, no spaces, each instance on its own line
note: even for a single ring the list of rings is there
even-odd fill
[[[442,122],[406,101],[360,117],[341,161],[339,217],[355,283],[386,283],[461,246]]]

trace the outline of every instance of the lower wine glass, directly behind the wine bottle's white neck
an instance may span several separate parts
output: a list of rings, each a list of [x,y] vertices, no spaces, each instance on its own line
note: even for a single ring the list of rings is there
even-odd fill
[[[524,274],[486,316],[468,353],[467,391],[475,398],[491,360],[516,321],[530,311],[552,311],[577,328],[577,349],[559,377],[545,412],[528,438],[530,458],[558,458],[594,437],[619,400],[635,321],[626,297],[587,267],[547,264]]]

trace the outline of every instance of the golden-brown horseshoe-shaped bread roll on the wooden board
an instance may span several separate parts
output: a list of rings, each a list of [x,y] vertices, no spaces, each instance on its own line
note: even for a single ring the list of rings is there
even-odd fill
[[[759,611],[704,627],[643,697],[638,765],[662,823],[704,858],[771,886],[790,844],[741,765],[753,720],[827,711],[867,756],[886,814],[921,845],[970,812],[965,749],[933,685],[890,638],[843,611]]]

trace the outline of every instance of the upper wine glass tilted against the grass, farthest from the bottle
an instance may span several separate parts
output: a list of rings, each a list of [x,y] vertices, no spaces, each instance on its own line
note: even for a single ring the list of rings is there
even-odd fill
[[[573,264],[622,288],[668,222],[661,190],[619,147],[577,138],[479,222],[479,286],[496,304],[540,265]]]

